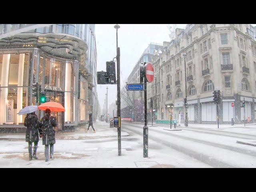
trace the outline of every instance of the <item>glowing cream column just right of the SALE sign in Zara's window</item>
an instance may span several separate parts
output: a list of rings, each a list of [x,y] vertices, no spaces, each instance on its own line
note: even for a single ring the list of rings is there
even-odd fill
[[[25,60],[25,54],[21,53],[19,58],[19,68],[18,68],[18,89],[17,89],[17,113],[22,109],[22,99],[23,99],[23,72],[24,72],[24,60]],[[22,115],[17,115],[17,122],[22,123]]]

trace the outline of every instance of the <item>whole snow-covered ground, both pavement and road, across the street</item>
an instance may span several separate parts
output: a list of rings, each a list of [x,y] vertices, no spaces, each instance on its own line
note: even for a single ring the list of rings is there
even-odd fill
[[[148,158],[143,158],[143,124],[122,122],[122,156],[118,156],[116,128],[95,124],[96,133],[80,127],[57,132],[54,159],[45,162],[42,140],[38,160],[28,160],[25,134],[0,134],[0,167],[12,168],[211,168],[256,167],[256,147],[237,140],[256,140],[254,126],[216,129],[206,126],[149,127]]]

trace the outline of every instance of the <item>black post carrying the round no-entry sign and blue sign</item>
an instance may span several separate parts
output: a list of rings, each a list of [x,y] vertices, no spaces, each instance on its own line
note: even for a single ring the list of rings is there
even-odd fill
[[[145,63],[144,63],[145,65]],[[143,157],[148,157],[148,126],[147,126],[147,80],[144,74],[144,117],[145,125],[143,127]]]

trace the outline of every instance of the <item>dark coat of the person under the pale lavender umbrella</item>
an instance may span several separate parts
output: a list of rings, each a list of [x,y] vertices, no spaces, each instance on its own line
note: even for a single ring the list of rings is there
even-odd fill
[[[26,116],[24,126],[26,127],[26,142],[38,142],[38,132],[41,132],[41,129],[37,116],[32,114]]]

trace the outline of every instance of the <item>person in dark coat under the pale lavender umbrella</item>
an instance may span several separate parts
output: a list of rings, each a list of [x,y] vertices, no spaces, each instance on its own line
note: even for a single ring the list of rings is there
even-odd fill
[[[38,146],[39,136],[38,131],[41,134],[40,122],[35,114],[35,112],[28,113],[24,120],[24,126],[26,127],[26,142],[28,142],[28,154],[29,160],[32,160],[32,157],[38,159],[36,156],[36,150]],[[34,152],[32,156],[32,143],[34,142]]]

